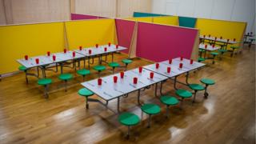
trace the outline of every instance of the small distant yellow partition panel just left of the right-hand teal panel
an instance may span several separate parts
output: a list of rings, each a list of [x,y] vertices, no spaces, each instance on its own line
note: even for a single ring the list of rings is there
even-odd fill
[[[154,23],[178,26],[178,17],[177,16],[166,16],[166,17],[154,17]]]

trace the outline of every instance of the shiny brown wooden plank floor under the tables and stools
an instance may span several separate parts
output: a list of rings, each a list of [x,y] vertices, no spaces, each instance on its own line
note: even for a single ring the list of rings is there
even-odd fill
[[[115,60],[126,58],[118,54]],[[132,69],[149,62],[137,59]],[[24,73],[3,78],[0,82],[0,143],[255,143],[255,51],[244,48],[242,54],[230,58],[226,55],[215,65],[190,74],[190,82],[200,78],[213,78],[216,85],[209,87],[210,97],[198,93],[197,102],[187,100],[183,109],[170,108],[170,118],[165,117],[165,106],[154,98],[154,89],[142,93],[142,102],[158,103],[162,113],[152,118],[152,126],[146,128],[146,114],[141,114],[136,94],[121,98],[121,110],[131,111],[142,118],[132,127],[130,139],[125,138],[126,126],[118,123],[118,114],[106,110],[98,103],[85,109],[85,98],[77,92],[82,78],[68,82],[68,91],[58,74],[47,72],[53,78],[50,98],[43,98],[43,88],[36,78],[30,77],[26,85]],[[66,68],[66,70],[69,70]],[[86,80],[93,79],[92,74]],[[74,74],[74,72],[73,72]],[[104,72],[104,75],[110,72]],[[184,76],[179,78],[184,81]],[[178,85],[187,89],[186,86]],[[165,94],[174,95],[173,82],[165,83]],[[98,98],[97,96],[93,96]],[[116,101],[110,102],[112,109]]]

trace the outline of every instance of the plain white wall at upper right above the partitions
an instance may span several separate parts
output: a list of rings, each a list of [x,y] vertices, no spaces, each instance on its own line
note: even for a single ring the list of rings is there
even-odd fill
[[[255,0],[152,0],[152,13],[247,22],[255,34]]]

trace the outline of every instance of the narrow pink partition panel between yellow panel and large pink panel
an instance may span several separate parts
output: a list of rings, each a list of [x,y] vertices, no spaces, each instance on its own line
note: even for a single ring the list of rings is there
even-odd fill
[[[122,19],[115,19],[115,25],[116,25],[117,34],[118,34],[118,44],[120,46],[127,47],[128,49],[123,50],[122,52],[128,54],[129,48],[130,48],[130,42],[132,40],[133,33],[134,33],[135,22],[122,20]]]

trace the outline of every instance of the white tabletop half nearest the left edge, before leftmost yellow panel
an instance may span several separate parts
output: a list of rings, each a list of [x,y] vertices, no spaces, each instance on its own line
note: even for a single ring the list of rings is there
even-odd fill
[[[50,56],[46,55],[41,55],[33,58],[29,58],[28,60],[25,60],[25,58],[18,59],[17,62],[19,62],[22,66],[25,66],[26,68],[32,68],[36,66],[45,66],[45,65],[50,65],[56,62],[65,62],[69,61],[72,59],[77,59],[77,58],[83,58],[84,56],[82,54],[75,54],[75,57],[73,58],[73,51],[67,51],[66,54],[64,52],[62,53],[56,53],[56,54],[50,54]],[[53,60],[53,55],[56,56],[56,60]],[[39,59],[39,63],[36,64],[35,59]]]

